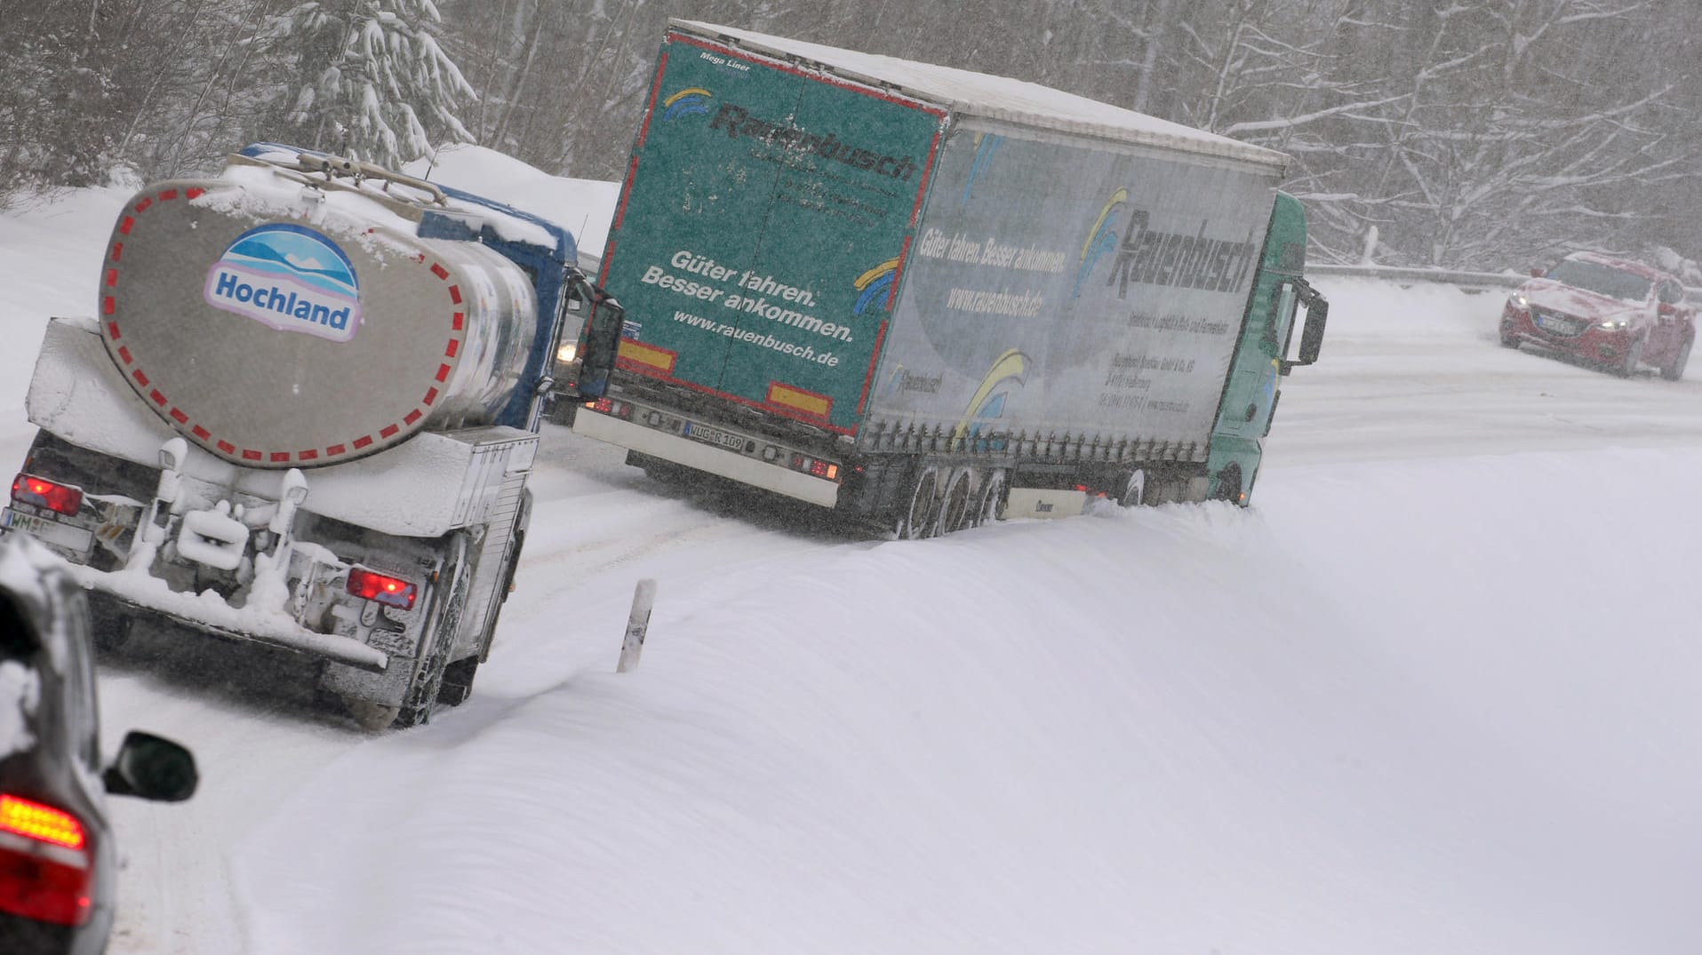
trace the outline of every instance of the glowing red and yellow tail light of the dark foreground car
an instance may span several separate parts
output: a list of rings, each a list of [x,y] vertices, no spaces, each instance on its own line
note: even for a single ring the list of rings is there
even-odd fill
[[[87,836],[75,815],[0,795],[0,912],[83,924],[92,882]]]

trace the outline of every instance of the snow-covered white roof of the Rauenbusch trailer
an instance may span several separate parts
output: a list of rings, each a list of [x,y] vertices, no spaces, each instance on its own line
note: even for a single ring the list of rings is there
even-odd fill
[[[1280,170],[1285,170],[1288,165],[1288,157],[1275,150],[1241,143],[1214,133],[1202,133],[1178,123],[1054,90],[1040,83],[953,70],[950,66],[933,66],[895,56],[839,49],[836,46],[820,46],[696,20],[674,19],[669,20],[669,26],[705,39],[734,41],[752,53],[802,61],[800,65],[815,65],[839,77],[873,87],[897,89],[897,92],[936,102],[965,116],[1234,158]]]

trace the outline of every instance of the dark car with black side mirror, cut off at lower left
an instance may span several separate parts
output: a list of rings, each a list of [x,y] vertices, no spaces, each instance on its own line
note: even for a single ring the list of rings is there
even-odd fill
[[[117,855],[106,793],[177,802],[196,763],[131,732],[100,759],[83,591],[44,546],[0,535],[0,953],[99,953]]]

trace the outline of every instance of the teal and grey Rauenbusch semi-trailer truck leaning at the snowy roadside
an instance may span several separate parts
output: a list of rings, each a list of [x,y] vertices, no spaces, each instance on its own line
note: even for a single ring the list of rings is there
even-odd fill
[[[1285,165],[1033,83],[671,20],[601,260],[616,369],[562,417],[650,472],[905,538],[1094,497],[1244,506],[1328,312]]]

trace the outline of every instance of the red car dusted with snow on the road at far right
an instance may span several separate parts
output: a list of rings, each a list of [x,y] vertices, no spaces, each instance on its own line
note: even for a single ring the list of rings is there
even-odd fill
[[[1697,337],[1685,286],[1641,262],[1573,252],[1532,272],[1501,310],[1501,344],[1534,344],[1603,364],[1622,376],[1642,366],[1676,381]]]

